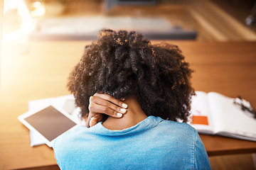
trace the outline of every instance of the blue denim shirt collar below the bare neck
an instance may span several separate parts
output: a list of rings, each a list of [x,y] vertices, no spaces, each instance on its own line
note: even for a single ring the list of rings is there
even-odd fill
[[[150,115],[148,118],[142,120],[137,125],[134,125],[124,130],[108,130],[102,125],[102,122],[97,123],[97,125],[94,125],[92,128],[89,128],[89,130],[97,135],[119,136],[119,135],[127,135],[127,134],[136,133],[136,132],[141,132],[143,130],[154,128],[156,127],[156,125],[161,123],[161,121],[163,121],[162,118],[154,117],[153,115]]]

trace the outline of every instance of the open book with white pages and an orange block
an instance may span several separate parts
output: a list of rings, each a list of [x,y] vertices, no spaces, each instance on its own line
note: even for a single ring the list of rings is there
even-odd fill
[[[215,92],[196,91],[191,103],[191,125],[203,134],[256,141],[256,119],[234,100]],[[242,102],[250,107],[249,102]]]

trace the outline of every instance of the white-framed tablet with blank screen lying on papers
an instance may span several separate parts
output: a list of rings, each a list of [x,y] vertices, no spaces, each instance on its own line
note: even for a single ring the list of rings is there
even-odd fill
[[[55,139],[63,132],[78,127],[67,112],[55,106],[48,106],[39,111],[28,111],[18,116],[18,120],[41,137],[48,147],[53,147]]]

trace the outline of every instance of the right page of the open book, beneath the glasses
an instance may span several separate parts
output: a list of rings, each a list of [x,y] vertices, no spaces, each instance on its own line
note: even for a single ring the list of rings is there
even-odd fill
[[[218,135],[256,138],[256,120],[236,106],[234,98],[211,92],[208,100]]]

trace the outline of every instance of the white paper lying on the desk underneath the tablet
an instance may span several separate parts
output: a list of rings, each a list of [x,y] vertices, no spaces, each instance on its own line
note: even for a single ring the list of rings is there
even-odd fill
[[[80,108],[75,108],[75,98],[73,95],[60,96],[55,98],[44,98],[36,101],[28,101],[28,111],[37,110],[38,108],[46,108],[49,105],[57,106],[68,112],[77,120],[80,125],[85,125],[85,121],[80,118]],[[33,131],[30,132],[31,147],[44,145],[45,143]]]

